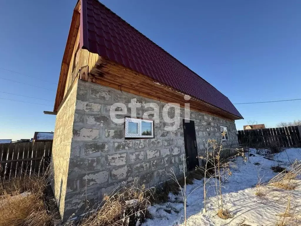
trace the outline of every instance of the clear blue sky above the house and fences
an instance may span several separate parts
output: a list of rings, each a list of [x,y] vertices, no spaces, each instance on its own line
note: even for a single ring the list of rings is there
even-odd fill
[[[105,0],[108,8],[206,79],[233,103],[301,98],[301,1]],[[3,1],[0,139],[54,131],[55,92],[76,1]],[[30,76],[30,77],[27,77]],[[39,87],[44,87],[42,89]],[[31,99],[6,93],[33,96]],[[47,105],[47,106],[45,106]],[[235,105],[273,127],[300,119],[301,101]]]

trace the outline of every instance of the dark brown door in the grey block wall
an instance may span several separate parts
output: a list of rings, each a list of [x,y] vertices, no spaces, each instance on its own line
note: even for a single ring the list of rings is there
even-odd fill
[[[185,122],[185,119],[183,119],[183,129],[187,168],[193,170],[196,166],[199,166],[194,121]]]

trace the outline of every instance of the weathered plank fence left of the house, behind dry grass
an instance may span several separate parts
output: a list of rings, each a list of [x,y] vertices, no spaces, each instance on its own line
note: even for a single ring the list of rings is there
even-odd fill
[[[51,149],[52,141],[0,144],[0,179],[44,173]]]

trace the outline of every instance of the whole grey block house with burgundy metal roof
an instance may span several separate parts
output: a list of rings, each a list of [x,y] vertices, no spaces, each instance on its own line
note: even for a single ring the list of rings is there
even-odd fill
[[[243,118],[226,96],[97,0],[74,8],[53,114],[52,188],[63,220],[122,181],[138,177],[152,186],[168,179],[169,168],[176,175],[194,169],[204,140],[238,146],[234,120]]]

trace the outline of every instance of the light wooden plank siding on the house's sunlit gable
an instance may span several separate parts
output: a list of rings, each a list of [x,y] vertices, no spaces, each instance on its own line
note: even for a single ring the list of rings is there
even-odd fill
[[[79,70],[81,69],[81,67],[88,65],[89,70],[91,70],[98,60],[97,53],[91,53],[86,49],[79,49],[78,52],[76,53],[78,46],[79,46],[79,37],[80,37],[80,30],[78,30],[78,33],[77,33],[76,42],[75,42],[75,45],[73,48],[72,58],[71,58],[71,61],[69,64],[69,71],[68,71],[68,75],[67,75],[64,97],[66,96],[67,91],[69,90],[69,88],[72,85],[72,83],[74,82],[74,80],[78,79]],[[73,64],[74,64],[74,61],[76,60],[75,55],[77,55],[78,62],[75,65],[75,68],[73,70]]]

